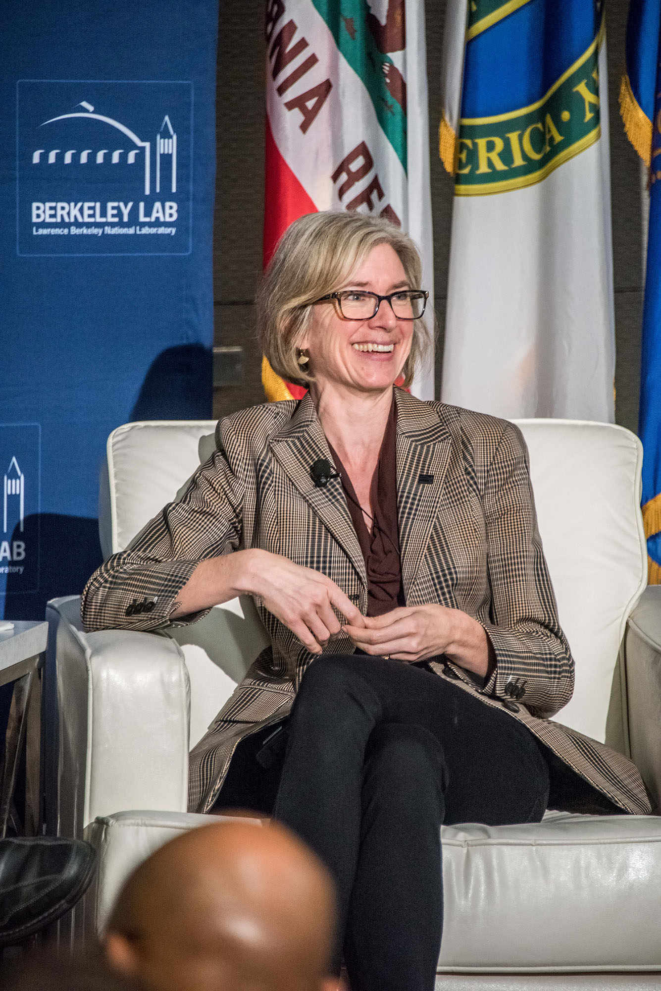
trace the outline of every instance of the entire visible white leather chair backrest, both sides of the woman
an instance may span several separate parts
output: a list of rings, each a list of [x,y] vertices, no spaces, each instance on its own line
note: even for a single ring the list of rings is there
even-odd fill
[[[617,650],[646,584],[640,442],[605,423],[520,420],[530,453],[539,530],[560,621],[576,659],[574,697],[560,721],[604,740]],[[123,550],[213,450],[213,421],[129,423],[108,439],[100,529]],[[175,630],[191,677],[191,745],[267,643],[249,599]],[[618,685],[615,686],[618,690]]]

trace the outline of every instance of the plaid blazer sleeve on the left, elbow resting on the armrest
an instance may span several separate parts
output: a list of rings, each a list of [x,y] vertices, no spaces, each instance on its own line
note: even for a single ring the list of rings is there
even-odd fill
[[[243,492],[243,480],[216,451],[180,501],[161,509],[126,551],[94,572],[82,596],[85,629],[183,626],[206,615],[209,609],[169,619],[199,562],[239,547]]]

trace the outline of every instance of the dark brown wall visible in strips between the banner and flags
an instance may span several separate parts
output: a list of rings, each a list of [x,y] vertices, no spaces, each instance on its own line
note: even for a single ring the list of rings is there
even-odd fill
[[[261,270],[264,212],[264,0],[223,0],[218,54],[218,173],[215,225],[216,344],[241,346],[242,378],[215,389],[215,415],[263,401],[253,340],[253,298]],[[635,430],[638,416],[642,268],[641,178],[624,136],[617,91],[624,61],[627,0],[607,7],[613,188],[614,290],[617,362],[616,419]],[[452,182],[437,154],[440,55],[445,0],[426,0],[429,147],[433,213],[434,291],[439,324],[436,384],[440,382]]]

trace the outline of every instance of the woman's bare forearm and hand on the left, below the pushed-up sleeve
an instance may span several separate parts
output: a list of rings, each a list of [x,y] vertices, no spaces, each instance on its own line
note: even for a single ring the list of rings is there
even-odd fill
[[[251,595],[262,601],[313,654],[339,633],[332,606],[351,626],[364,626],[359,609],[330,578],[259,548],[201,561],[181,589],[170,619]]]

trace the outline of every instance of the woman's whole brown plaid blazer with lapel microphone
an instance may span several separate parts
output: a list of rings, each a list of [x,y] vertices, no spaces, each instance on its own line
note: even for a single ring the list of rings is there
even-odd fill
[[[407,603],[463,609],[485,627],[497,658],[485,685],[444,658],[431,661],[431,668],[485,706],[525,723],[615,805],[648,813],[645,787],[630,761],[549,720],[571,698],[574,662],[557,618],[519,429],[401,389],[395,393]],[[166,505],[128,550],[92,575],[82,600],[87,629],[148,630],[199,619],[206,612],[169,620],[197,563],[247,547],[324,572],[366,612],[365,564],[342,489],[317,489],[310,475],[318,458],[331,460],[310,395],[240,410],[219,422],[216,444],[181,500]],[[433,477],[430,485],[419,483],[422,474]],[[136,599],[153,603],[150,611],[133,611]],[[191,753],[191,811],[211,809],[236,743],[289,713],[315,659],[287,626],[256,605],[272,647]],[[352,653],[354,645],[340,635],[326,651]]]

